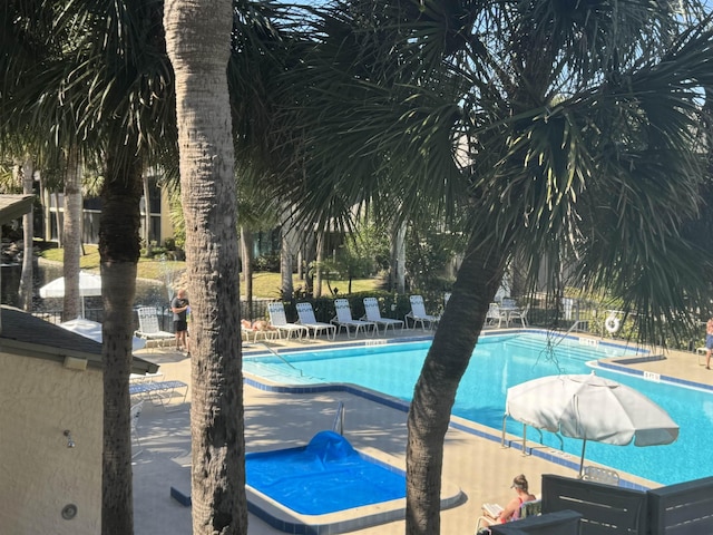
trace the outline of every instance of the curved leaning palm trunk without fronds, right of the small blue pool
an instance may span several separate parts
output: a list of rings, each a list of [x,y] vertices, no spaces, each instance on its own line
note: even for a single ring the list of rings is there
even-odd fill
[[[456,391],[502,279],[502,254],[484,254],[470,242],[453,293],[413,391],[408,417],[408,535],[440,533],[443,440]]]

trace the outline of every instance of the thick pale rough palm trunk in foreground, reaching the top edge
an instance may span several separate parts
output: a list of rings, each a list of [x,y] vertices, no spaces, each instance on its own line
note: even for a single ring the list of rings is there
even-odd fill
[[[229,0],[166,2],[191,299],[194,535],[247,533]]]

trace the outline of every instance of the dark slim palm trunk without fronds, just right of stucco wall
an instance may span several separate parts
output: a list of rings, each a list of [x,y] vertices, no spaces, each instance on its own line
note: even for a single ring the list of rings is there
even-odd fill
[[[101,534],[134,533],[129,374],[136,266],[139,255],[141,162],[120,142],[109,144],[101,192],[99,254],[104,358]],[[123,154],[127,153],[128,154]]]

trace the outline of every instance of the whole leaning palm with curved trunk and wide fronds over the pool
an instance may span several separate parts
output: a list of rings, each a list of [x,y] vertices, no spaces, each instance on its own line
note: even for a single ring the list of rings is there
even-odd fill
[[[387,192],[403,214],[428,202],[469,221],[409,411],[407,533],[440,531],[450,410],[510,257],[530,288],[543,259],[567,262],[636,310],[647,340],[682,334],[704,302],[712,257],[685,230],[702,216],[713,37],[702,6],[675,7],[687,17],[647,1],[350,2],[321,27],[320,120],[302,115],[324,172],[312,213]]]

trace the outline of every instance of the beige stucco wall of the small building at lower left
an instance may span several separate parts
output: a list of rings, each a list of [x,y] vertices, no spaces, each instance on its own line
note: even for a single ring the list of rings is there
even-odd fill
[[[101,405],[100,371],[0,352],[2,535],[100,533]]]

